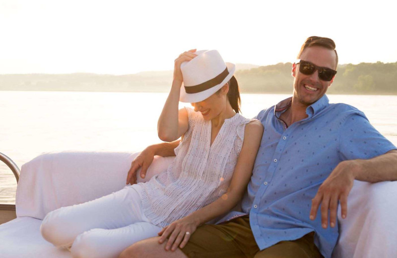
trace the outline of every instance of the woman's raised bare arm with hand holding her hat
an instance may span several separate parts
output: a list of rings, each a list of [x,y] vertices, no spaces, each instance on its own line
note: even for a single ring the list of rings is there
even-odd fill
[[[157,123],[157,133],[163,141],[174,141],[188,130],[188,112],[186,109],[178,111],[179,95],[183,81],[181,64],[195,58],[197,56],[194,53],[195,51],[190,50],[181,54],[174,62],[174,79],[171,91]]]

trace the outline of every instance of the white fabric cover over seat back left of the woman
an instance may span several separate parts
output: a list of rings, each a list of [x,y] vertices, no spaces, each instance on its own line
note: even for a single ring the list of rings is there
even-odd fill
[[[54,152],[24,164],[16,190],[16,215],[43,219],[63,206],[93,200],[126,186],[138,153]],[[173,157],[155,157],[145,180],[167,169]],[[138,182],[144,180],[138,177]]]

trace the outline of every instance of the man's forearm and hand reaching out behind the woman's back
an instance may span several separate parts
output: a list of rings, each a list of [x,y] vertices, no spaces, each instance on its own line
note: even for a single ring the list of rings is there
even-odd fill
[[[173,142],[163,142],[146,147],[131,163],[131,168],[128,171],[127,182],[131,185],[136,184],[136,171],[141,167],[140,177],[145,178],[146,171],[153,162],[155,155],[168,157],[175,156],[174,149],[179,145],[180,140]]]

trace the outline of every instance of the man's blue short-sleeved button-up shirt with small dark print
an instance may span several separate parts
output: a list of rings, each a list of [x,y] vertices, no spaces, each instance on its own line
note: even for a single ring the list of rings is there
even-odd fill
[[[257,116],[265,131],[242,209],[250,214],[261,250],[315,231],[316,246],[329,258],[338,229],[321,227],[320,209],[316,220],[309,219],[312,198],[339,162],[373,158],[396,147],[361,111],[329,104],[326,95],[306,109],[306,119],[287,128],[279,117],[290,106],[291,98]]]

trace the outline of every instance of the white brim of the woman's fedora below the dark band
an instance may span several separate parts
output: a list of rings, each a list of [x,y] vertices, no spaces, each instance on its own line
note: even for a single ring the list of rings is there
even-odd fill
[[[198,93],[186,93],[184,84],[181,86],[181,92],[180,92],[180,97],[179,101],[181,102],[187,102],[187,103],[195,103],[195,102],[200,102],[203,101],[204,99],[209,98],[212,94],[217,92],[220,88],[222,88],[223,85],[226,84],[230,80],[230,78],[233,76],[234,71],[236,70],[236,65],[231,64],[231,63],[226,63],[227,70],[229,74],[225,77],[225,79],[219,83],[218,85],[215,85],[207,90],[198,92]]]

